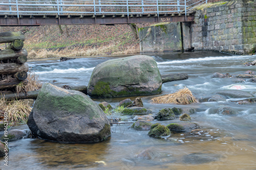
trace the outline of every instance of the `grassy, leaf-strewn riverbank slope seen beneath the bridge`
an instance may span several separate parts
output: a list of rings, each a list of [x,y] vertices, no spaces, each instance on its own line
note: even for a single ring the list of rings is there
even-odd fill
[[[138,24],[145,27],[150,24]],[[0,27],[0,32],[25,32],[28,59],[120,55],[140,52],[139,40],[129,25],[70,25]],[[5,48],[5,44],[0,46]]]

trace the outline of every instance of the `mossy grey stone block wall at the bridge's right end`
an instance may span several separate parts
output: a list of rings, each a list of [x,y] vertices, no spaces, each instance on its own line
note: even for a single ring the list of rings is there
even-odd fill
[[[220,2],[197,10],[191,25],[191,44],[195,50],[254,53],[256,1]]]

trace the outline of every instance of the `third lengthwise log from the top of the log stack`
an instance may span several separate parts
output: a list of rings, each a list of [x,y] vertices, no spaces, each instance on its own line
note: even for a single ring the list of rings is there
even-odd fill
[[[29,65],[27,63],[17,64],[17,63],[3,63],[0,64],[0,74],[12,74],[19,71],[28,72]]]

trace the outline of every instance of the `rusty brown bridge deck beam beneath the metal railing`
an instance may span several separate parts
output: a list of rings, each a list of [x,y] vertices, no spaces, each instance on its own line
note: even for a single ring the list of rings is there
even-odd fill
[[[129,24],[158,22],[193,22],[194,13],[101,14],[101,15],[0,15],[0,26]]]

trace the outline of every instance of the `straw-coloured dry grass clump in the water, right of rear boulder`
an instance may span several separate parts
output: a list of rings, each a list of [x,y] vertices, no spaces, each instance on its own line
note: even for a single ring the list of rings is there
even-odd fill
[[[190,104],[197,102],[197,99],[187,87],[180,89],[175,93],[151,99],[151,103]]]

